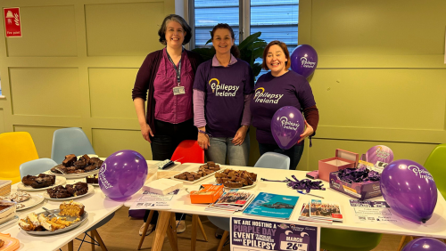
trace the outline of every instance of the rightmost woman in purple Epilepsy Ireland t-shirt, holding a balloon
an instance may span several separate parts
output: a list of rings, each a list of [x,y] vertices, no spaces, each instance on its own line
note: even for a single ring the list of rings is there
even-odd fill
[[[305,77],[289,70],[290,53],[285,43],[272,41],[263,51],[263,69],[270,71],[259,77],[251,101],[252,126],[257,128],[260,155],[267,151],[285,154],[291,160],[290,169],[295,170],[301,160],[303,140],[312,137],[318,127],[319,113]],[[271,118],[277,109],[293,106],[301,111],[307,128],[301,139],[289,150],[282,150],[271,134]]]

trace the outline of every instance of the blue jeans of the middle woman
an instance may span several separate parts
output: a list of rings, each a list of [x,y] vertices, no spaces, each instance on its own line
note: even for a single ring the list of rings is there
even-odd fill
[[[226,158],[231,166],[248,166],[250,153],[250,135],[246,134],[244,142],[235,146],[232,143],[233,138],[211,137],[209,142],[211,146],[205,150],[206,158],[221,165],[226,165]]]

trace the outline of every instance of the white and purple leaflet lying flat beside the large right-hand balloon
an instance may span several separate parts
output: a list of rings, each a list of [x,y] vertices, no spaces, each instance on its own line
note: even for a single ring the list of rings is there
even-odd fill
[[[355,223],[401,223],[385,201],[350,200]]]

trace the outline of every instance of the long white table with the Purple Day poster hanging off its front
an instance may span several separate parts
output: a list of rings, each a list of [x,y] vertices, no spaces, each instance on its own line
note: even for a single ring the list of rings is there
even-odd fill
[[[183,170],[197,170],[201,164],[191,164],[186,163],[181,167]],[[388,233],[388,234],[397,234],[397,235],[409,235],[409,236],[423,236],[423,237],[434,237],[446,239],[446,217],[445,217],[445,209],[446,209],[446,201],[442,198],[440,192],[438,193],[437,206],[434,210],[434,215],[432,218],[427,221],[425,224],[417,224],[410,223],[407,220],[401,219],[401,223],[392,224],[364,224],[364,223],[355,223],[352,217],[349,217],[351,214],[351,206],[350,206],[350,196],[347,196],[341,192],[331,190],[329,188],[328,182],[323,182],[326,190],[311,190],[312,194],[319,195],[324,197],[329,201],[337,201],[341,205],[341,209],[343,211],[343,223],[333,223],[333,224],[324,224],[324,223],[310,223],[299,221],[299,214],[302,204],[306,201],[309,201],[311,198],[308,195],[301,195],[297,193],[295,190],[289,189],[286,186],[285,182],[262,182],[260,178],[266,178],[268,180],[278,180],[283,181],[285,177],[291,178],[291,175],[295,175],[297,179],[301,180],[305,178],[306,171],[293,171],[293,170],[278,170],[278,169],[268,169],[268,168],[259,168],[259,167],[244,167],[244,166],[225,166],[233,169],[242,169],[247,170],[252,173],[256,173],[259,182],[257,186],[248,189],[254,193],[259,193],[260,191],[265,191],[269,193],[277,193],[284,195],[294,195],[300,196],[301,198],[298,201],[297,206],[293,211],[293,215],[291,215],[289,222],[290,223],[299,223],[303,225],[309,226],[321,226],[324,228],[332,228],[332,229],[340,229],[340,230],[351,230],[351,231],[368,231],[368,232],[378,232],[378,233]],[[204,180],[202,183],[212,183],[215,182],[215,178],[212,177]],[[199,184],[195,183],[194,185],[185,185],[186,188],[190,187],[198,187]],[[190,189],[189,189],[190,190]],[[138,198],[139,195],[135,195],[133,198]],[[153,239],[153,251],[159,251],[162,248],[162,243],[164,241],[164,233],[168,226],[169,214],[170,212],[177,213],[185,213],[192,215],[211,215],[211,216],[220,216],[220,217],[229,217],[229,215],[219,214],[217,212],[204,211],[204,208],[208,206],[207,204],[191,204],[190,198],[186,190],[180,190],[178,193],[178,199],[173,204],[170,210],[160,211],[160,216],[157,223],[157,230],[155,233],[155,238]],[[371,200],[384,200],[383,197],[372,198]],[[125,206],[131,205],[131,201],[125,203]],[[235,213],[234,216],[243,217],[242,213]],[[268,220],[266,217],[259,217],[259,219]],[[270,218],[271,219],[271,218]],[[193,230],[194,231],[194,230]]]

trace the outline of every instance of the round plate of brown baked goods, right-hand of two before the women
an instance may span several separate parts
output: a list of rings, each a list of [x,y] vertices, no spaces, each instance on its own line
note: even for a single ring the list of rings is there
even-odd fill
[[[257,174],[245,170],[226,169],[215,174],[216,181],[222,183],[227,188],[242,188],[250,186],[257,181]]]

